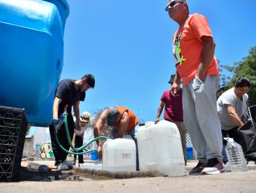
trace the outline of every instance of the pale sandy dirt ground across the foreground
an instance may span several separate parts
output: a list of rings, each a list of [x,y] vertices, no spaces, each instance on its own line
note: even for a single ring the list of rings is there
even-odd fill
[[[189,162],[186,170],[194,165],[195,161]],[[214,175],[134,179],[93,179],[80,175],[78,179],[0,183],[0,192],[256,192],[256,165],[250,162],[249,169]],[[70,173],[71,170],[61,172],[60,176]]]

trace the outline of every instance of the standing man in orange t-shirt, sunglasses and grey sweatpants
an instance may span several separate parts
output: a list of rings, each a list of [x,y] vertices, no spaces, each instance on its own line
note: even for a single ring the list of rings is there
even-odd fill
[[[193,147],[199,153],[199,163],[189,174],[226,172],[216,106],[219,70],[208,20],[201,14],[190,14],[186,0],[168,0],[165,10],[179,24],[173,37],[176,76],[172,94],[180,90],[182,79],[183,119]]]

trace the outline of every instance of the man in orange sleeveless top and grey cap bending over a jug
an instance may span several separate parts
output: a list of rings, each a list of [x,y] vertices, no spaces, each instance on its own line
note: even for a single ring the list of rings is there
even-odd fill
[[[100,114],[95,128],[94,128],[94,137],[102,135],[102,129],[104,124],[107,121],[107,125],[113,126],[112,136],[113,139],[122,138],[123,135],[127,132],[130,134],[131,138],[136,144],[136,167],[139,170],[138,164],[138,146],[137,138],[135,136],[135,126],[138,124],[138,119],[134,112],[128,108],[122,106],[115,106],[113,108],[107,108]],[[102,158],[102,140],[97,141],[98,144],[98,156]]]

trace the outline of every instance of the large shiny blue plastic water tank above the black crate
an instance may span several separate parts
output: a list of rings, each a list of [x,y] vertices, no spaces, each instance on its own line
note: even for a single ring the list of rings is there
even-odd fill
[[[51,123],[63,67],[68,6],[65,21],[58,8],[41,0],[0,1],[0,105],[24,108],[37,126]]]

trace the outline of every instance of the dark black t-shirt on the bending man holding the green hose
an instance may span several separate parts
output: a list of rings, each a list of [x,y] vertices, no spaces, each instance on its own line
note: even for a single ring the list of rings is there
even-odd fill
[[[77,101],[84,101],[85,98],[85,91],[80,92],[75,90],[75,80],[73,79],[64,79],[60,81],[60,83],[57,85],[57,89],[55,92],[55,96],[62,99],[62,102],[59,105],[59,112],[58,115],[62,114],[64,112],[65,105],[68,105],[68,115],[71,114],[72,106]]]

